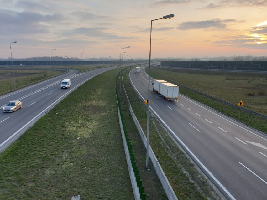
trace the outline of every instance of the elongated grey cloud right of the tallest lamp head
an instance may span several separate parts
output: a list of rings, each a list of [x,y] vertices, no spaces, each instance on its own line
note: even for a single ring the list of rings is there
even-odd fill
[[[212,19],[205,21],[189,21],[180,23],[177,27],[179,30],[204,29],[204,28],[220,28],[226,29],[228,23],[237,22],[235,19]]]

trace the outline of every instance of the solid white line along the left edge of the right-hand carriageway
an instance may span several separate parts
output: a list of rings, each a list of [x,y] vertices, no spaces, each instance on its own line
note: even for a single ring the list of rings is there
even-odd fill
[[[131,76],[130,80],[132,82]],[[132,85],[134,86],[133,82]],[[144,97],[139,93],[139,91],[136,89],[136,87],[134,86],[135,91],[139,94],[139,96],[145,101]],[[150,107],[150,105],[149,105]],[[177,140],[181,143],[181,145],[188,151],[188,153],[196,160],[196,162],[201,165],[201,167],[212,177],[212,179],[222,188],[222,190],[232,199],[232,200],[236,200],[233,195],[222,185],[222,183],[220,183],[218,181],[218,179],[207,169],[207,167],[205,167],[205,165],[195,156],[195,154],[193,154],[193,152],[185,145],[185,143],[183,143],[183,141],[181,141],[181,139],[170,129],[170,127],[160,118],[160,116],[153,110],[153,108],[150,107],[150,109],[154,112],[155,115],[157,115],[158,119],[161,121],[161,123],[164,124],[164,126],[172,133],[172,135],[174,137],[177,138]]]

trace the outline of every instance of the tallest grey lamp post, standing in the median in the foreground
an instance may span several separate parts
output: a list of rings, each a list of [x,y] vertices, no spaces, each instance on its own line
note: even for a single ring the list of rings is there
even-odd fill
[[[174,14],[165,15],[163,18],[159,19],[171,19],[174,17]],[[146,168],[148,169],[148,150],[149,150],[149,85],[150,85],[150,60],[151,60],[151,33],[152,33],[152,21],[159,20],[153,19],[151,20],[150,26],[150,46],[149,46],[149,75],[148,75],[148,98],[147,98],[147,146],[146,146]]]

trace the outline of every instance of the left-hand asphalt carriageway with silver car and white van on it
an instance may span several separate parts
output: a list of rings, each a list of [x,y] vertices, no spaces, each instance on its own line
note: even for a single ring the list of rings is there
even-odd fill
[[[87,80],[114,68],[116,67],[94,69],[79,74],[77,74],[77,70],[71,69],[66,74],[0,96],[0,152],[66,95]],[[60,83],[63,79],[71,79],[71,87],[69,89],[60,89]],[[2,111],[3,106],[11,100],[22,101],[22,109],[12,113],[4,113]]]

